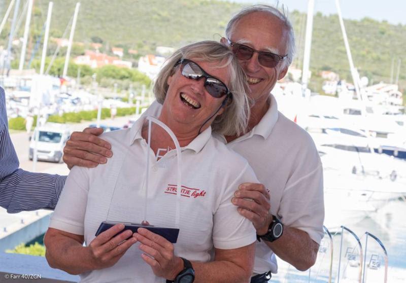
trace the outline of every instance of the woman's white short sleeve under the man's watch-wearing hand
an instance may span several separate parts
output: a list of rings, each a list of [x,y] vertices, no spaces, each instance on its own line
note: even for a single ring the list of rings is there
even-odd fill
[[[241,216],[231,203],[235,190],[242,183],[258,183],[252,168],[246,164],[222,196],[220,206],[213,217],[213,244],[216,249],[230,250],[256,241],[255,228],[251,221]]]

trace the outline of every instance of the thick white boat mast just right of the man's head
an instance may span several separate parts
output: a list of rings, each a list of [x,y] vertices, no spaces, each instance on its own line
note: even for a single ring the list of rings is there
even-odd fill
[[[308,88],[309,83],[310,52],[312,49],[313,11],[314,11],[314,0],[309,0],[308,16],[306,23],[306,38],[304,39],[303,70],[301,75],[303,96],[305,96],[305,92],[306,89]]]

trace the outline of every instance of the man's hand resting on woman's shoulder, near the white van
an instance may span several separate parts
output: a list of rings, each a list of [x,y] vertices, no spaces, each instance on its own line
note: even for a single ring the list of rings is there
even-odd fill
[[[82,167],[96,167],[107,162],[106,157],[112,157],[111,145],[99,137],[102,128],[86,128],[83,132],[73,132],[66,141],[63,149],[63,161],[71,169],[78,165]]]

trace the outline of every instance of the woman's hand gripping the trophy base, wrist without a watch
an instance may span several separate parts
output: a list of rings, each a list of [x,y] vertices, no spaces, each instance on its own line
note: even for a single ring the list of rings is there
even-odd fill
[[[115,236],[123,229],[123,224],[114,225],[90,242],[87,249],[93,269],[103,269],[115,265],[129,247],[137,242],[136,238],[131,237],[131,230]]]

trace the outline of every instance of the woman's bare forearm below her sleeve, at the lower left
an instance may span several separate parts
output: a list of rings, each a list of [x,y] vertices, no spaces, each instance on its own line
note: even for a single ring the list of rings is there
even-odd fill
[[[52,268],[58,268],[70,274],[80,274],[92,270],[87,248],[77,239],[65,235],[45,234],[45,257]]]

